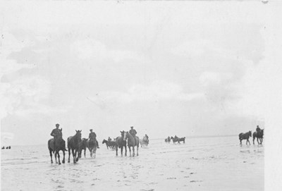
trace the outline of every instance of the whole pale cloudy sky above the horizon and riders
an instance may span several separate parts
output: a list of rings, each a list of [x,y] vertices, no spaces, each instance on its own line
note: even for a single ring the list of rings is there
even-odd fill
[[[131,125],[152,138],[264,128],[276,12],[260,1],[5,3],[2,144],[45,144],[56,123],[65,140],[93,128],[100,141]]]

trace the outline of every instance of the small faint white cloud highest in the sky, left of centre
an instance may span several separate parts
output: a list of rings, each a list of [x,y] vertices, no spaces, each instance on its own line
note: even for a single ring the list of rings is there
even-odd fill
[[[106,59],[112,59],[116,62],[120,62],[126,59],[137,61],[142,61],[143,59],[142,56],[135,51],[111,50],[102,42],[94,39],[84,39],[73,42],[71,51],[73,54],[77,54],[78,58],[82,60],[95,59],[104,61]]]

